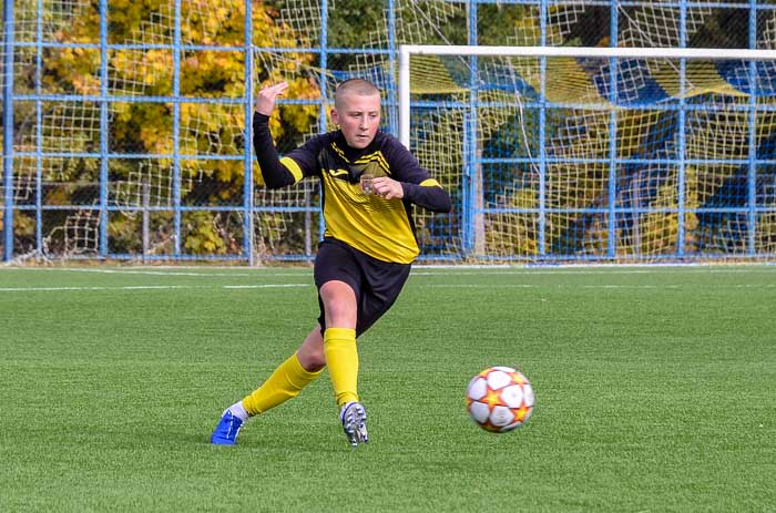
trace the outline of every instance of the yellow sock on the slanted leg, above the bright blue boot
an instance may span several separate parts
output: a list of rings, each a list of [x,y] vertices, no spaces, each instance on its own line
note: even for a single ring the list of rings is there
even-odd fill
[[[256,391],[243,399],[243,406],[252,417],[263,413],[298,396],[320,372],[323,369],[317,372],[305,370],[295,352]]]

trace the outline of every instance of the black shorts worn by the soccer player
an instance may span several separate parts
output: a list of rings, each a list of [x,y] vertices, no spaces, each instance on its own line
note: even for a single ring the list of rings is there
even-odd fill
[[[348,284],[356,293],[356,336],[359,336],[394,305],[409,277],[409,271],[410,264],[378,260],[340,240],[326,238],[318,246],[314,275],[318,290],[327,281],[339,280]],[[318,322],[323,334],[326,329],[326,315],[320,294],[318,305]]]

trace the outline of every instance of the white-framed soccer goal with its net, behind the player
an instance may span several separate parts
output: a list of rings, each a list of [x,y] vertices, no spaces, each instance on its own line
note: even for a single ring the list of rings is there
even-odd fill
[[[400,138],[473,260],[773,258],[775,58],[404,45]]]

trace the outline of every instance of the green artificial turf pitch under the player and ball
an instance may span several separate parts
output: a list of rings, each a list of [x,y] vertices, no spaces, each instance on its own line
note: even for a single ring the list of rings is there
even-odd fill
[[[417,267],[359,340],[370,443],[328,375],[221,412],[317,316],[310,269],[0,269],[0,511],[776,511],[776,267]],[[464,410],[511,366],[531,420]]]

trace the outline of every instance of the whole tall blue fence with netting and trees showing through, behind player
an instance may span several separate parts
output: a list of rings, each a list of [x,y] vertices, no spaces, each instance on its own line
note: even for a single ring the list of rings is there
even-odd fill
[[[776,4],[318,0],[3,4],[2,259],[308,261],[314,183],[262,187],[257,84],[292,82],[280,152],[333,85],[385,91],[401,44],[776,49]],[[423,260],[773,260],[776,62],[413,60],[411,150],[451,192]]]

